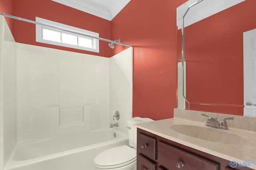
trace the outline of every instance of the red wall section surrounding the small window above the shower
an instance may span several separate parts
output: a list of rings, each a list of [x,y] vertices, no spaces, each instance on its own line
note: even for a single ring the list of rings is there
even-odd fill
[[[7,2],[8,0],[4,1]],[[98,32],[101,38],[111,38],[110,21],[76,10],[74,8],[70,8],[68,6],[64,6],[52,0],[16,0],[13,3],[13,15],[33,21],[36,20],[36,17],[40,17],[47,20],[64,23],[66,25],[87,29],[89,31]],[[44,43],[36,43],[36,31],[34,24],[18,20],[14,20],[13,22],[14,39],[18,43],[110,57],[110,48],[108,47],[108,42],[100,41],[100,53],[48,45]]]

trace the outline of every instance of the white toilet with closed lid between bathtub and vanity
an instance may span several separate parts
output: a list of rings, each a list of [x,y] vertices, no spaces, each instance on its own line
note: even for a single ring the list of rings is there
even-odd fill
[[[154,120],[134,117],[127,121],[130,147],[123,145],[101,152],[94,158],[95,170],[136,170],[137,128],[132,124],[146,121]]]

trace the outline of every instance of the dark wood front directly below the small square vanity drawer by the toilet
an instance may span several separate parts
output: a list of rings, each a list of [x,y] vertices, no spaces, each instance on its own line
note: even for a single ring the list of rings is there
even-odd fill
[[[137,170],[157,170],[157,163],[147,159],[142,154],[137,156]]]

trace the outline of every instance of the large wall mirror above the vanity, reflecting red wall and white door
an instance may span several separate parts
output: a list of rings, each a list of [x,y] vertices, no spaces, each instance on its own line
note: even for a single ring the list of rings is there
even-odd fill
[[[215,4],[210,4],[212,2]],[[246,115],[244,68],[250,67],[253,72],[256,62],[251,60],[244,66],[244,32],[256,29],[256,0],[230,2],[231,5],[225,7],[223,0],[190,0],[179,7],[182,14],[177,14],[177,55],[178,59],[184,55],[186,76],[182,90],[186,109]],[[219,7],[226,9],[211,14],[212,8]],[[250,49],[253,49],[256,40],[253,36],[251,39]],[[256,74],[251,78],[256,90]],[[254,93],[252,89],[252,98]],[[253,101],[247,102],[252,104],[246,107],[256,108]]]

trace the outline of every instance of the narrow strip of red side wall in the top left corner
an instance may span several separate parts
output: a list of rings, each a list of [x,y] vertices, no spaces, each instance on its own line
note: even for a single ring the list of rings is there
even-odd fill
[[[0,12],[12,15],[13,14],[13,0],[0,0]],[[5,18],[10,30],[13,33],[13,21],[10,18]]]

